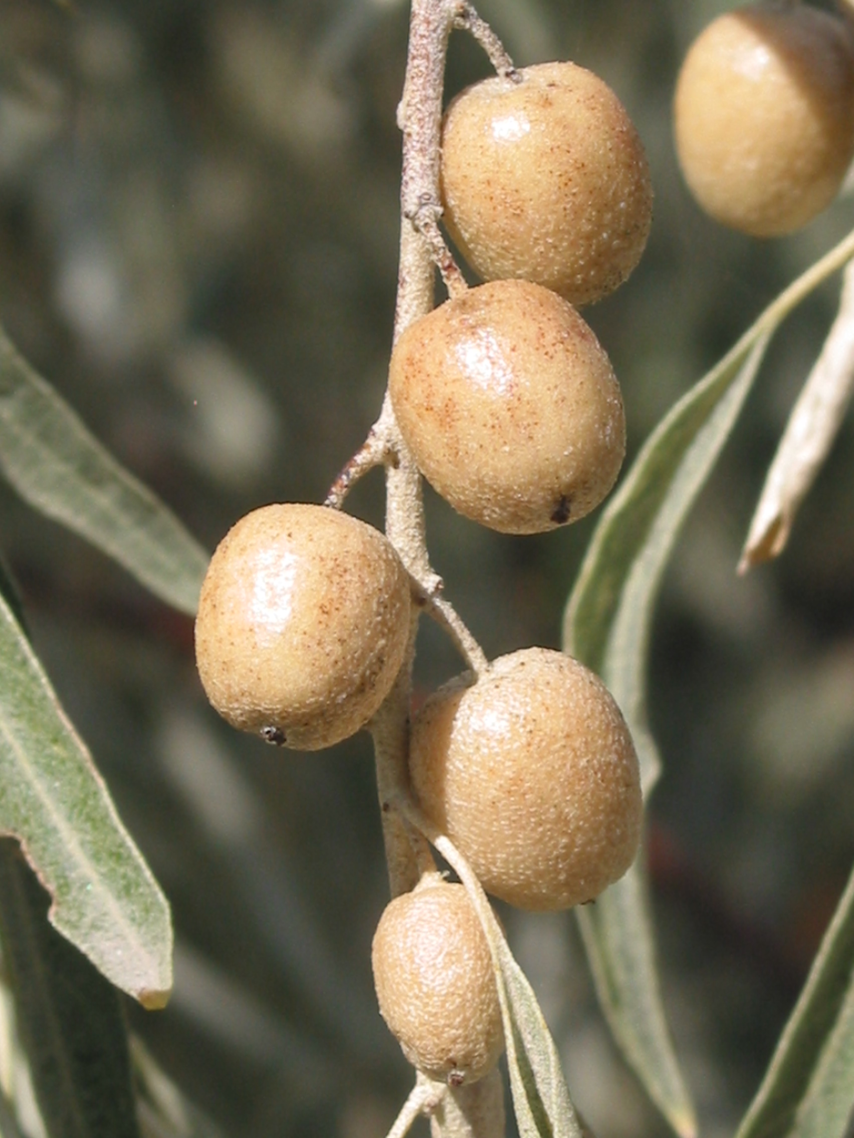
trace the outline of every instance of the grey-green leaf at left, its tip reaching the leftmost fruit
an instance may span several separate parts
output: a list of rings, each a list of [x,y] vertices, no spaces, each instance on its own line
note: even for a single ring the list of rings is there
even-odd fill
[[[0,328],[0,469],[25,501],[194,615],[208,555],[121,467]]]

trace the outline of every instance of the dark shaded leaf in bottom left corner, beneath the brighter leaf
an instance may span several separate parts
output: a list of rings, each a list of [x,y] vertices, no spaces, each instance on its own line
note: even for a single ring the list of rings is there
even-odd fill
[[[49,1138],[139,1138],[118,993],[48,924],[49,898],[0,840],[0,935]]]

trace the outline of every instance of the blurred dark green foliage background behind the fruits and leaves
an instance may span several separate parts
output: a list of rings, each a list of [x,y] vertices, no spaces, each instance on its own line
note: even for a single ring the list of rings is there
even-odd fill
[[[482,0],[517,63],[572,58],[633,116],[656,190],[631,281],[585,314],[630,455],[851,225],[843,199],[757,242],[676,171],[675,72],[714,0]],[[2,0],[0,319],[211,547],[255,505],[321,501],[376,417],[397,251],[403,0]],[[486,74],[452,42],[447,92]],[[704,1133],[730,1133],[854,859],[854,429],[778,564],[734,576],[835,310],[785,325],[666,578],[651,660],[665,775],[650,866],[665,998]],[[381,523],[371,476],[350,508]],[[557,645],[596,519],[507,537],[428,493],[447,594],[493,655]],[[35,645],[166,890],[167,1011],[136,1031],[224,1135],[381,1135],[410,1071],[376,1009],[387,896],[367,737],[273,753],[207,708],[189,620],[0,485]],[[417,688],[458,670],[433,627]],[[609,1042],[568,914],[503,913],[600,1136],[665,1133]],[[426,1132],[426,1127],[425,1131]]]

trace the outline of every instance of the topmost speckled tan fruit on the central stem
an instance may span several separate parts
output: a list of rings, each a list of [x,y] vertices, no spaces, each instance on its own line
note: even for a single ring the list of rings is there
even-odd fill
[[[649,166],[619,99],[570,63],[487,79],[447,108],[444,220],[485,280],[519,277],[576,305],[632,272],[652,220]]]

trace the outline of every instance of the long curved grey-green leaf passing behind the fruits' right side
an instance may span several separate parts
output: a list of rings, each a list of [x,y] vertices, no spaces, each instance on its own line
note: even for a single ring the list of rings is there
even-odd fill
[[[567,605],[564,646],[602,676],[623,709],[646,794],[659,772],[646,711],[649,629],[679,529],[732,430],[774,329],[852,256],[854,233],[786,289],[676,403],[647,440],[593,535]],[[695,1133],[693,1107],[662,1005],[639,867],[578,918],[599,1000],[617,1042],[674,1130]]]

